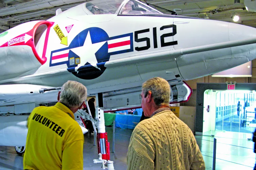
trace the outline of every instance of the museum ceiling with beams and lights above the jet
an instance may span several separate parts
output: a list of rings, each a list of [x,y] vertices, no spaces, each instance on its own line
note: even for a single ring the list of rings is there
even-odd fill
[[[65,0],[64,2],[66,1],[71,3],[65,4],[61,0],[0,0],[0,29],[2,31],[8,30],[16,25],[33,20],[47,20],[55,15],[55,11],[58,8],[65,11],[70,7],[84,2],[83,0]],[[235,3],[235,1],[240,3]],[[233,21],[233,17],[237,15],[240,18],[235,23],[256,27],[256,13],[246,10],[244,0],[235,1],[148,0],[147,2],[167,10],[175,11],[178,15],[182,16],[235,22]],[[255,0],[250,1],[254,1],[254,4],[256,4]],[[155,8],[164,14],[170,14],[158,7]]]

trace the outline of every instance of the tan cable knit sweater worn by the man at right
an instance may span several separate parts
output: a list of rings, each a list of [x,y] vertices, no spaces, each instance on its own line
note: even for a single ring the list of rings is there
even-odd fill
[[[127,165],[128,170],[205,170],[192,131],[166,109],[135,127]]]

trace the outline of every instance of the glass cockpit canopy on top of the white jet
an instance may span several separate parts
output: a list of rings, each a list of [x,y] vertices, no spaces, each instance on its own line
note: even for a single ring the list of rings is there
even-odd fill
[[[162,14],[154,8],[138,0],[92,0],[85,3],[91,15],[99,14]]]

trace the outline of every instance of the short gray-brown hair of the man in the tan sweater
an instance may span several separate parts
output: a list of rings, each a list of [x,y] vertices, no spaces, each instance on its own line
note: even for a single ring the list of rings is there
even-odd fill
[[[147,97],[148,91],[151,91],[157,106],[169,105],[171,89],[170,84],[163,78],[154,77],[142,84],[142,92]]]

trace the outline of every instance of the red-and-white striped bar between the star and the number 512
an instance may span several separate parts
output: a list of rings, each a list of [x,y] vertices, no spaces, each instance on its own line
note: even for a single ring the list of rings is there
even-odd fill
[[[130,36],[108,41],[109,53],[131,48]]]

